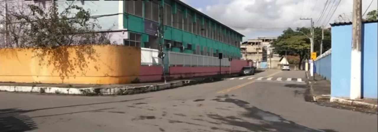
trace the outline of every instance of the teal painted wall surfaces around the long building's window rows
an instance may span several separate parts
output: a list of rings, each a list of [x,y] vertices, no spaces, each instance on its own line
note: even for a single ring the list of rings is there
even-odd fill
[[[173,6],[174,2],[172,2],[170,0],[164,0],[164,1],[165,1],[165,3],[171,5],[172,8],[176,7],[176,9],[180,9],[180,10],[184,10],[186,8],[182,5],[179,5],[178,3],[175,6]],[[174,10],[174,9],[172,9],[172,10]],[[198,13],[195,13],[195,11],[193,11],[193,10],[190,10],[190,9],[187,9],[187,10],[188,10],[188,14],[190,13],[190,14],[192,14],[192,16],[194,16],[194,14],[196,14],[197,16],[199,15]],[[172,11],[172,12],[175,12],[175,11]],[[144,14],[144,12],[143,12],[143,14]],[[206,18],[203,18],[203,19],[205,19],[206,21],[209,21],[209,19],[206,19]],[[203,21],[203,20],[201,20],[201,21]],[[217,23],[217,26],[214,27],[212,25],[212,28],[213,29],[214,28],[219,29],[220,24],[217,21],[211,21],[211,23],[212,24]],[[201,24],[203,24],[203,22],[201,22]],[[142,47],[144,46],[143,42],[149,41],[148,35],[144,33],[144,18],[143,17],[139,17],[139,16],[136,16],[136,15],[133,15],[133,14],[125,13],[125,15],[124,15],[124,28],[127,28],[131,32],[142,34],[142,44],[141,44]],[[226,29],[226,27],[221,27],[221,29],[222,29],[221,32],[226,33],[226,31],[224,31],[224,29]],[[228,30],[228,31],[232,32],[231,30]],[[236,33],[236,32],[233,32],[233,35],[234,35],[234,38],[237,41],[242,41],[242,35],[238,35],[238,33]],[[197,48],[197,45],[200,45],[200,51],[203,51],[204,46],[206,46],[208,51],[210,51],[210,48],[212,48],[213,53],[215,53],[215,51],[218,49],[220,52],[223,52],[223,53],[227,52],[228,55],[233,54],[234,57],[237,57],[237,58],[240,57],[240,48],[239,47],[228,45],[228,44],[222,43],[220,41],[215,41],[215,40],[212,40],[210,38],[203,37],[201,35],[197,35],[197,34],[194,34],[194,33],[191,33],[191,32],[186,32],[186,31],[183,31],[182,29],[173,28],[173,27],[166,26],[166,25],[164,26],[164,39],[181,42],[185,47],[187,47],[188,43],[192,44],[192,50],[184,50],[184,53],[193,54],[193,51],[196,50],[195,48]],[[179,48],[173,48],[172,51],[180,52],[180,49]]]

